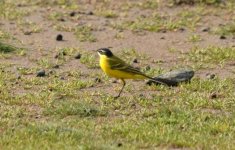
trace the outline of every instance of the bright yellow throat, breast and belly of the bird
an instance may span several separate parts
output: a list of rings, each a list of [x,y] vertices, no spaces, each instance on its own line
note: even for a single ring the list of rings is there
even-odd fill
[[[100,67],[108,76],[117,79],[146,79],[145,76],[140,74],[111,69],[108,58],[104,55],[100,56]]]

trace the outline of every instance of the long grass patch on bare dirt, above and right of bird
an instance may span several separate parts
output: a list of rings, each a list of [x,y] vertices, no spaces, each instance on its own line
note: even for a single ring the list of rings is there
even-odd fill
[[[195,12],[187,12],[187,14],[179,14],[177,19],[170,16],[159,16],[153,14],[151,16],[140,16],[133,21],[125,21],[121,24],[112,24],[117,29],[129,29],[131,31],[175,31],[179,28],[189,27],[194,29],[200,21],[200,17]]]

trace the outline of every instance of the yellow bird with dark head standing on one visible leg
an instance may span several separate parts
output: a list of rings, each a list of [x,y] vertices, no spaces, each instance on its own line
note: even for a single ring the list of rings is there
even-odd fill
[[[123,83],[118,95],[114,98],[120,97],[126,85],[125,79],[151,79],[160,84],[164,84],[160,81],[156,81],[152,77],[147,76],[139,69],[127,64],[125,61],[115,56],[109,48],[100,48],[96,51],[98,52],[100,58],[99,65],[103,72],[105,72],[109,77],[120,79]]]

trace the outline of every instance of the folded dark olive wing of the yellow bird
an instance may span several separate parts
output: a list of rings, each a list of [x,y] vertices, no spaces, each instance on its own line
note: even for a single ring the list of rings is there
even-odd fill
[[[139,74],[139,75],[146,76],[139,69],[134,68],[134,67],[126,64],[123,60],[121,60],[118,57],[114,56],[113,58],[110,58],[109,62],[110,62],[111,69],[120,70],[120,71],[124,71],[124,72],[129,72],[129,73],[133,73],[133,74]]]

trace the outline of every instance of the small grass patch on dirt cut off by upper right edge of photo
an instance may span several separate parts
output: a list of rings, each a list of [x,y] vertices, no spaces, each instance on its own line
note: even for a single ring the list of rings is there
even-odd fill
[[[224,26],[221,26],[221,27],[217,28],[214,32],[219,35],[224,35],[224,36],[225,35],[232,35],[232,36],[234,36],[235,35],[235,23],[229,23]]]

